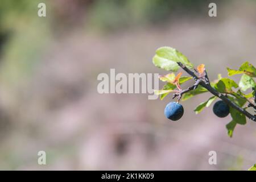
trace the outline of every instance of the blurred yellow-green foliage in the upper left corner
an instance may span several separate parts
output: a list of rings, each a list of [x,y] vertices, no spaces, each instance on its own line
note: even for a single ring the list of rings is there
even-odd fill
[[[49,39],[48,19],[39,21],[37,15],[39,2],[45,1],[3,0],[0,3],[0,39],[3,40],[0,42],[0,80],[3,82],[17,84],[26,78]]]

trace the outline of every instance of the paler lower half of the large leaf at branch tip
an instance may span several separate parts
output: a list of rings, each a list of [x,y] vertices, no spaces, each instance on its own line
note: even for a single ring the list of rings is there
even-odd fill
[[[158,55],[153,57],[153,63],[156,67],[165,69],[166,71],[176,72],[179,69],[179,65],[175,61],[164,59]]]

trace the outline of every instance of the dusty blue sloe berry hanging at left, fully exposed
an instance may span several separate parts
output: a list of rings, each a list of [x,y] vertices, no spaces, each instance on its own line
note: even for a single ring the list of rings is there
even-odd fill
[[[172,121],[177,121],[183,116],[184,109],[183,106],[180,104],[177,104],[176,102],[170,102],[166,105],[166,109],[164,109],[164,115],[168,119],[171,119]]]

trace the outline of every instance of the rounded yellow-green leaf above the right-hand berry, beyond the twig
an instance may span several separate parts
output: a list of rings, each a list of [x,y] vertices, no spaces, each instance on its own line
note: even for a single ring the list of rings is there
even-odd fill
[[[216,84],[215,89],[221,93],[233,93],[232,88],[238,88],[237,83],[229,78],[221,78]]]

